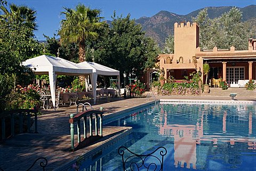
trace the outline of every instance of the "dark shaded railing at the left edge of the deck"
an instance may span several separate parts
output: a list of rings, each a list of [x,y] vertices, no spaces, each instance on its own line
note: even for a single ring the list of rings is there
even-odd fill
[[[27,131],[28,133],[31,133],[31,114],[34,116],[34,126],[35,126],[35,133],[37,132],[37,110],[36,107],[34,107],[35,110],[31,109],[19,109],[19,110],[11,110],[6,111],[3,113],[0,113],[0,120],[1,120],[1,129],[2,129],[2,136],[0,137],[0,141],[4,141],[7,139],[7,137],[14,136],[15,133],[20,134],[24,133],[25,130],[23,129],[23,126],[25,125],[25,120],[27,119]],[[10,122],[10,124],[9,124]],[[7,124],[6,124],[7,123]],[[19,125],[18,129],[15,130],[15,125]],[[11,132],[6,135],[6,131],[11,130]]]

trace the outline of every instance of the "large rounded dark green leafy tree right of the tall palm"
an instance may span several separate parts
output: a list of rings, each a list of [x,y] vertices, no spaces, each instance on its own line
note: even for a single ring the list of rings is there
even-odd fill
[[[149,68],[154,68],[159,52],[155,42],[145,37],[141,25],[127,17],[115,18],[111,28],[105,29],[105,36],[95,43],[94,60],[108,67],[117,69],[120,73],[132,72],[137,76]]]

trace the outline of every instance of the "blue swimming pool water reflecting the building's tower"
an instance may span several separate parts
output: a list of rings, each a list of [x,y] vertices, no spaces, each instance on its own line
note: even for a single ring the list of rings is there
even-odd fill
[[[256,170],[255,105],[156,104],[107,125],[130,126],[129,139],[81,170],[123,170],[119,146],[135,153],[167,149],[164,170]],[[89,164],[89,165],[88,165]]]

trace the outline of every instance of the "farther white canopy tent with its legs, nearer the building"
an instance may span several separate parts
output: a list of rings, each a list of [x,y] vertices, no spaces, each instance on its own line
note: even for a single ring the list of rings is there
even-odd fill
[[[98,75],[103,75],[103,76],[117,76],[117,80],[118,80],[118,90],[119,90],[119,97],[121,96],[121,91],[120,91],[120,76],[119,76],[119,71],[106,67],[106,66],[102,66],[99,63],[95,63],[95,62],[81,62],[77,64],[80,68],[89,68],[92,69],[92,77],[91,77],[91,83],[92,83],[92,91],[93,91],[93,100],[94,103],[96,102],[96,86],[97,86],[97,77]],[[87,81],[85,80],[85,83],[87,83]],[[87,85],[85,84],[86,89],[87,89]]]

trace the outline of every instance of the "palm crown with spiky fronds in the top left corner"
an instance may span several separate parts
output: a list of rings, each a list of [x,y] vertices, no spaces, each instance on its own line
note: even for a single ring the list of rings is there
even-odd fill
[[[25,26],[32,30],[36,30],[36,11],[30,9],[27,6],[17,6],[15,4],[10,5],[10,12],[4,6],[0,6],[2,15],[0,15],[0,21],[7,23],[12,23],[16,26]]]

